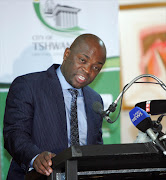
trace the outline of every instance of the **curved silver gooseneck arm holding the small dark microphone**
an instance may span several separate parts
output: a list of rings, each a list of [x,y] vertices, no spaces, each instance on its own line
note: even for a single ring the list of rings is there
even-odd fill
[[[153,79],[155,79],[160,86],[166,91],[166,85],[156,76],[152,75],[152,74],[142,74],[139,75],[137,77],[135,77],[130,83],[128,83],[122,90],[122,92],[119,94],[119,96],[116,98],[116,100],[108,107],[108,109],[105,111],[106,115],[109,116],[109,114],[111,112],[114,112],[116,110],[117,104],[119,102],[119,100],[122,98],[123,94],[128,90],[128,88],[133,85],[137,80],[143,78],[143,77],[151,77]],[[117,118],[116,118],[117,120]],[[114,123],[116,120],[110,122],[110,123]]]

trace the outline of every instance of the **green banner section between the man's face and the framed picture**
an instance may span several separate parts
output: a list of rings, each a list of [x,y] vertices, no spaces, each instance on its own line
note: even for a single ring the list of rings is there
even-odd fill
[[[120,93],[120,73],[119,73],[119,57],[107,58],[107,61],[96,79],[91,83],[91,87],[101,95],[112,96],[113,101]],[[107,102],[109,105],[112,102]],[[114,120],[119,112],[119,107],[111,115],[111,120]],[[109,124],[103,121],[103,140],[104,144],[119,144],[120,139],[120,117],[118,120]]]

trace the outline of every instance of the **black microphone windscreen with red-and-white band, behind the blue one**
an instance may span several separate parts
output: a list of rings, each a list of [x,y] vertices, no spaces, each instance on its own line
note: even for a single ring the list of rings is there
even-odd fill
[[[166,100],[159,99],[142,101],[137,103],[135,107],[140,107],[151,115],[164,114],[166,113]]]

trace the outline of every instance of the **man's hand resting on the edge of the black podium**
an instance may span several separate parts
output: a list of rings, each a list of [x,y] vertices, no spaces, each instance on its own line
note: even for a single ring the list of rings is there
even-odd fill
[[[39,154],[33,162],[33,167],[40,174],[49,176],[52,173],[52,160],[51,158],[55,157],[54,153],[45,151]]]

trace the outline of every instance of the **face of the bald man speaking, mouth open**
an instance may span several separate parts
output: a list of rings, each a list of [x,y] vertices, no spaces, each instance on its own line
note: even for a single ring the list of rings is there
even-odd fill
[[[90,84],[105,63],[103,49],[93,43],[82,43],[64,53],[62,73],[66,81],[75,88]]]

